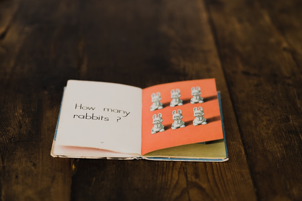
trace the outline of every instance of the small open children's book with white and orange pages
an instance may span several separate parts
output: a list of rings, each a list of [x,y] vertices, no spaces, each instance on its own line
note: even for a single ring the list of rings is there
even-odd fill
[[[141,89],[68,80],[53,157],[228,160],[215,79]]]

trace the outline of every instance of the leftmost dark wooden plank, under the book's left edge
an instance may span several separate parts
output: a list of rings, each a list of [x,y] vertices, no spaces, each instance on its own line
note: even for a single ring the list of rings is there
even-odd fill
[[[59,1],[13,3],[20,3],[18,14],[0,52],[0,197],[69,200],[73,159],[54,159],[50,149],[63,86],[76,76],[70,69],[77,67],[78,38],[70,32],[77,25],[65,17],[77,8]]]

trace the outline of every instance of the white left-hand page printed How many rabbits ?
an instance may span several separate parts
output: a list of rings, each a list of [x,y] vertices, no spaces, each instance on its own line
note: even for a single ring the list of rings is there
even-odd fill
[[[141,119],[142,89],[116,83],[68,80],[56,146],[140,154]]]

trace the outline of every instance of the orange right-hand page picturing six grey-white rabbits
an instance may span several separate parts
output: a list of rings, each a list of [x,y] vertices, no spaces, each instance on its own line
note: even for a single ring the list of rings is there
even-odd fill
[[[200,87],[200,97],[203,98],[204,102],[197,102],[192,104],[191,98],[193,96],[191,95],[191,88],[194,87],[194,89],[197,90],[197,86]],[[177,105],[171,107],[171,90],[174,90],[174,97],[177,97],[178,92],[176,89],[180,90],[181,96],[179,97],[179,99],[182,100],[183,105],[181,105],[181,102],[178,99],[174,99],[172,105]],[[160,107],[160,103],[153,104],[152,102],[152,99],[153,101],[157,99],[156,96],[159,95],[157,94],[157,92],[160,93],[161,100],[159,102],[162,104],[162,108]],[[196,101],[198,101],[198,98],[193,99],[193,102]],[[217,89],[214,78],[180,81],[150,86],[143,89],[142,102],[142,155],[158,149],[223,139],[222,124],[217,99]],[[193,111],[194,107],[202,107],[204,112],[203,117],[206,119],[207,124],[198,124],[196,126],[193,125],[193,120],[195,119],[195,112]],[[151,108],[154,111],[150,111]],[[175,115],[172,114],[174,110],[176,110]],[[177,128],[172,129],[172,123],[174,122],[172,118],[173,116],[175,116],[176,118],[177,116],[179,116],[179,114],[177,114],[178,110],[182,111],[183,118],[181,119],[181,121],[184,122],[185,127],[178,127],[182,123],[180,123],[179,120],[176,120],[176,122],[179,124],[175,124],[175,127]],[[162,118],[159,118],[159,113],[162,114]],[[197,113],[200,112],[197,111]],[[159,131],[162,130],[162,127],[160,127],[159,125],[157,125],[157,127],[153,129],[153,126],[155,126],[153,124],[153,115],[155,114],[155,121],[162,119],[161,124],[164,129],[164,131],[162,132]],[[156,130],[157,132],[152,134],[151,130],[153,131],[153,133]]]

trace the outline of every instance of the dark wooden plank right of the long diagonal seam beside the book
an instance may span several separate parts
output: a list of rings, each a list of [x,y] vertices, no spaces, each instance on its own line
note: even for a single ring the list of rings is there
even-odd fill
[[[302,5],[207,5],[258,198],[301,200]]]

